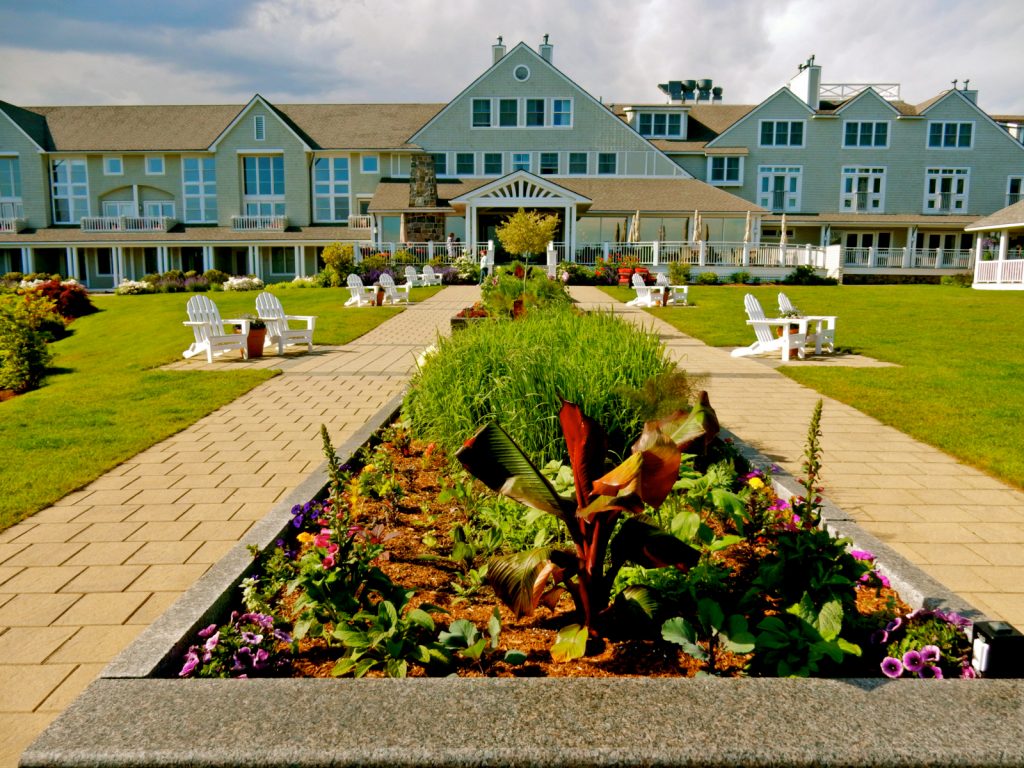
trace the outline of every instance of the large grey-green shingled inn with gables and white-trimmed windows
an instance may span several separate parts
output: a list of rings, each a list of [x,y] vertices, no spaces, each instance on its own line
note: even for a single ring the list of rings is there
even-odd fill
[[[0,101],[0,273],[287,281],[338,241],[449,260],[449,232],[500,259],[495,228],[519,207],[557,215],[552,250],[582,263],[941,274],[1015,253],[970,225],[1021,198],[1024,118],[966,87],[912,104],[898,85],[824,84],[812,57],[759,104],[685,80],[604,104],[553,50],[499,39],[447,103]]]

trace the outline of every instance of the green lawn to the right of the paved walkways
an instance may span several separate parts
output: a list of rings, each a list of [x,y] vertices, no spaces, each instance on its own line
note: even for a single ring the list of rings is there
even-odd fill
[[[783,287],[809,314],[839,316],[836,341],[901,368],[781,369],[1018,487],[1024,487],[1024,293],[946,286]],[[690,287],[689,307],[650,310],[716,346],[754,340],[743,294],[777,315],[779,287]],[[609,289],[616,298],[635,295]],[[827,429],[827,426],[825,427]]]

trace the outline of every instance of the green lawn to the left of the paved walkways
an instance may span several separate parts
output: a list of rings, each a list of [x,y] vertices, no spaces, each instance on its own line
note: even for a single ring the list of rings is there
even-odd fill
[[[437,288],[418,288],[423,300]],[[52,345],[44,385],[0,403],[0,530],[88,484],[140,451],[194,424],[273,376],[155,370],[180,359],[191,343],[181,325],[190,294],[94,295],[101,310],[75,321]],[[210,294],[222,316],[256,311],[256,294]],[[344,289],[279,293],[285,311],[316,314],[313,340],[344,344],[399,307],[343,308]]]

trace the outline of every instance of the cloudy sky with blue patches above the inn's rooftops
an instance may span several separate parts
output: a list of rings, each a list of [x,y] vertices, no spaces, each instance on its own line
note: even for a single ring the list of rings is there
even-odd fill
[[[1024,114],[1021,0],[0,0],[0,99],[22,105],[446,101],[498,35],[605,101],[713,78],[755,103],[816,55],[826,83],[920,102],[965,78]]]

